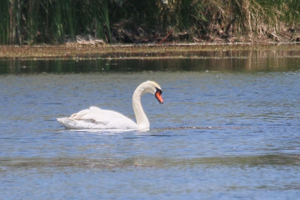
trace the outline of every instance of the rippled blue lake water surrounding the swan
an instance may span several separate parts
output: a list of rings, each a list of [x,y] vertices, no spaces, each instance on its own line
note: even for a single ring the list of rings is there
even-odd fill
[[[222,54],[222,53],[221,53]],[[201,57],[202,56],[202,57]],[[299,52],[0,61],[0,199],[298,199]],[[149,131],[64,130],[89,106]]]

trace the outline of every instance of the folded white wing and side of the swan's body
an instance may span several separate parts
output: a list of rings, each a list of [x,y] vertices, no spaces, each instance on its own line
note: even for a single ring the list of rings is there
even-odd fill
[[[89,128],[99,129],[137,129],[136,123],[124,115],[111,110],[90,107],[70,116],[69,119],[83,122]]]

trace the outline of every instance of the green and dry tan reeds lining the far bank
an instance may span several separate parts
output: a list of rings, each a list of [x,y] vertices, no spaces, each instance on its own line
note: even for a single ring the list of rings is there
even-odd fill
[[[299,0],[8,0],[0,44],[300,40]]]

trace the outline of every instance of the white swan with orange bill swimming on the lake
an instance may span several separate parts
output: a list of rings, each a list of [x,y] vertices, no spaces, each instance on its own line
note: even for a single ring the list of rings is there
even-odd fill
[[[139,85],[132,96],[132,107],[137,123],[118,112],[94,106],[69,118],[57,118],[57,121],[65,129],[149,129],[149,121],[141,104],[141,97],[148,92],[154,94],[159,104],[164,102],[161,87],[156,82],[146,81]]]

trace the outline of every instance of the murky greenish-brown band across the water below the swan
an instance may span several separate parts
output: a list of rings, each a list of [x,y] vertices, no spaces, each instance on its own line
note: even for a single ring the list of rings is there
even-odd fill
[[[172,167],[172,166],[299,166],[299,154],[253,155],[233,157],[166,158],[137,156],[130,158],[88,159],[79,157],[62,158],[7,158],[0,160],[1,168],[128,168],[128,167]]]

